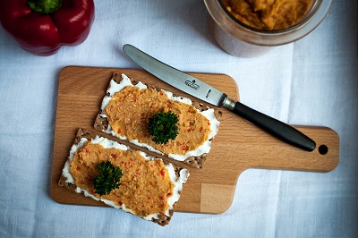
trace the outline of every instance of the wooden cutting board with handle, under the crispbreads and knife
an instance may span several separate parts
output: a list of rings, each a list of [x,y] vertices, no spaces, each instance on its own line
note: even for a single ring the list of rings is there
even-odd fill
[[[57,182],[77,130],[93,130],[94,120],[114,72],[125,73],[130,78],[192,98],[140,70],[65,67],[59,74],[51,183],[51,197],[59,203],[106,206],[66,190]],[[239,99],[237,85],[231,77],[224,74],[191,74],[226,92],[230,98]],[[248,168],[328,172],[338,164],[339,138],[329,128],[295,126],[317,143],[317,149],[306,152],[273,138],[225,108],[222,111],[219,131],[204,167],[185,166],[190,169],[191,175],[184,184],[177,211],[214,214],[226,211],[232,203],[238,176]]]

